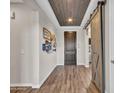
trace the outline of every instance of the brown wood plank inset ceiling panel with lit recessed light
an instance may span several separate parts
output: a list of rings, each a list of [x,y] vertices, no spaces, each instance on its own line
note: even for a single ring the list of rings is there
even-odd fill
[[[49,0],[60,26],[80,26],[90,0]]]

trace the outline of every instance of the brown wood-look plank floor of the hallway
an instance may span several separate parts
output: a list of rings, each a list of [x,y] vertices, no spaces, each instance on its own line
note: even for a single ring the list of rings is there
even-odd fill
[[[98,93],[91,70],[83,66],[57,66],[39,89],[11,88],[10,93]]]

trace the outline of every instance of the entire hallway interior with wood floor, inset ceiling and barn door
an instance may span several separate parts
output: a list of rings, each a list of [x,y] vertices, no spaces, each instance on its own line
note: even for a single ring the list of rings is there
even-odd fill
[[[113,93],[112,9],[113,0],[11,0],[10,92]]]

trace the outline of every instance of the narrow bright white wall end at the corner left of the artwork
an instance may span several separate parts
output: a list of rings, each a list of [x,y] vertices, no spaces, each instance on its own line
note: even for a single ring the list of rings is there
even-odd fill
[[[39,12],[32,12],[31,47],[32,51],[32,87],[39,87]]]

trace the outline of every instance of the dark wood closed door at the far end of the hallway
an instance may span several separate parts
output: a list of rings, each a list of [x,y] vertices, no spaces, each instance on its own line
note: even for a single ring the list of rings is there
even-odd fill
[[[64,32],[65,65],[76,65],[76,32]]]

